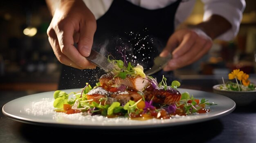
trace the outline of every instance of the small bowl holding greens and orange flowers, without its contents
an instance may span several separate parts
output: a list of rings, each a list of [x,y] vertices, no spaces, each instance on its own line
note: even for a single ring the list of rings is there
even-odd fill
[[[254,91],[227,91],[220,90],[220,85],[213,86],[213,92],[229,97],[236,102],[237,106],[248,106],[256,103],[256,90]]]

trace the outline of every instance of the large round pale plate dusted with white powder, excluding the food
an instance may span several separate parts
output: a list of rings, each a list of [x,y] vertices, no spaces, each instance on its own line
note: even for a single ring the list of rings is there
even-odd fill
[[[231,113],[236,108],[236,103],[228,97],[211,92],[190,89],[178,89],[181,93],[187,91],[198,99],[208,99],[218,105],[207,106],[211,110],[206,114],[194,114],[190,116],[175,117],[172,119],[150,119],[146,121],[129,120],[126,118],[104,118],[102,116],[84,116],[81,114],[65,114],[53,111],[53,93],[43,92],[21,97],[6,103],[2,112],[7,117],[23,123],[36,125],[55,125],[76,128],[100,128],[100,129],[135,129],[155,128],[174,125],[198,123],[216,119]],[[63,90],[67,93],[81,92],[80,89]]]

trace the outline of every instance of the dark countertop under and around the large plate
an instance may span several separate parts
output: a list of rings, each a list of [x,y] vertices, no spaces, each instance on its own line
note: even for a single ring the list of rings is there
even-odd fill
[[[208,84],[200,84],[194,80],[183,80],[182,88],[204,90],[211,92]],[[204,84],[202,86],[202,84]],[[0,91],[2,106],[19,97],[31,93],[22,91]],[[188,125],[177,125],[166,128],[136,129],[136,130],[92,130],[68,127],[51,127],[20,123],[5,117],[0,113],[0,142],[28,143],[67,141],[118,141],[118,142],[206,142],[206,143],[255,143],[256,142],[256,106],[239,107],[230,114]]]

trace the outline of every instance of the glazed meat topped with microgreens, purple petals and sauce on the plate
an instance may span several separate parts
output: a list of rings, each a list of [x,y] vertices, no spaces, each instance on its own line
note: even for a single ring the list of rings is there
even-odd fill
[[[188,92],[180,93],[178,81],[168,86],[163,76],[157,83],[156,79],[144,74],[140,65],[132,66],[125,60],[109,59],[109,62],[115,68],[102,75],[93,88],[87,83],[81,92],[55,91],[55,111],[147,120],[207,113],[210,109],[206,106],[217,105],[204,98],[196,99]]]

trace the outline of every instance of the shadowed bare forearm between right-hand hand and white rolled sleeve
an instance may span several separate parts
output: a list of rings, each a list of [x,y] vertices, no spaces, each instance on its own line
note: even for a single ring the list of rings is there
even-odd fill
[[[211,39],[215,39],[221,34],[231,29],[231,24],[220,15],[212,15],[208,20],[191,26],[191,28],[198,28],[204,31]]]

